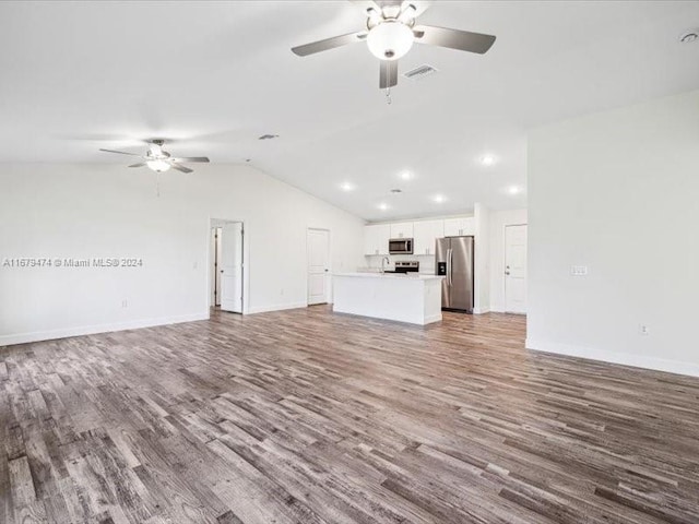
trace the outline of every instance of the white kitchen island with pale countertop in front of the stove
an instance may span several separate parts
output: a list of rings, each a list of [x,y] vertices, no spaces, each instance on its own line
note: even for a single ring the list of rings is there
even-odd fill
[[[442,276],[383,273],[333,275],[333,311],[411,324],[441,320]]]

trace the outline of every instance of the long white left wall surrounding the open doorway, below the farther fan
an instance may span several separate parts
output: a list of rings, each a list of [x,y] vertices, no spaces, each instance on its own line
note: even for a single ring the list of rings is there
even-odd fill
[[[306,305],[307,227],[331,230],[333,271],[364,263],[364,221],[247,166],[170,170],[159,198],[119,165],[0,165],[0,345],[206,318],[210,218],[245,222],[249,312]],[[2,267],[22,257],[144,265]]]

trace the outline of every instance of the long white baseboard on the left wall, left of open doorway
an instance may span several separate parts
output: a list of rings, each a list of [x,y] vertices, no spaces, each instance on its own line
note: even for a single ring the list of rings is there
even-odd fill
[[[201,313],[178,314],[175,317],[159,317],[155,319],[130,320],[111,324],[93,324],[76,327],[63,327],[60,330],[35,331],[31,333],[14,333],[0,335],[0,346],[26,344],[29,342],[54,341],[69,336],[94,335],[96,333],[110,333],[112,331],[138,330],[139,327],[153,327],[154,325],[179,324],[196,320],[208,320],[209,311]]]

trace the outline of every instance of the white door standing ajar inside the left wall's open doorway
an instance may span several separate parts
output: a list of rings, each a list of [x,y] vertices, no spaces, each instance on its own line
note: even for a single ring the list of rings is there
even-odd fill
[[[221,309],[242,312],[242,223],[221,228]]]

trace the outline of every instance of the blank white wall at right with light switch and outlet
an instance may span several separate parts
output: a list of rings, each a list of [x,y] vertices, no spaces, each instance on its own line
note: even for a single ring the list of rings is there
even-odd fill
[[[528,347],[699,376],[699,92],[533,131],[528,178]]]

